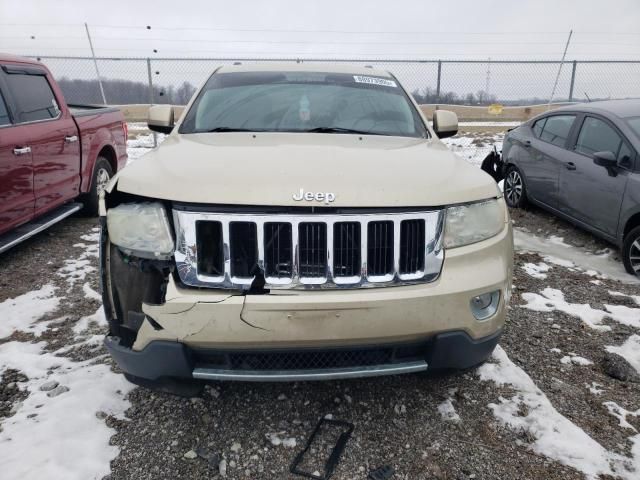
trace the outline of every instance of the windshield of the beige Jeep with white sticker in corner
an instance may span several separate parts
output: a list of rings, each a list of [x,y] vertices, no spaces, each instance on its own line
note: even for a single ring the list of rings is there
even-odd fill
[[[427,136],[394,80],[313,72],[212,75],[180,127],[180,133],[211,131]]]

